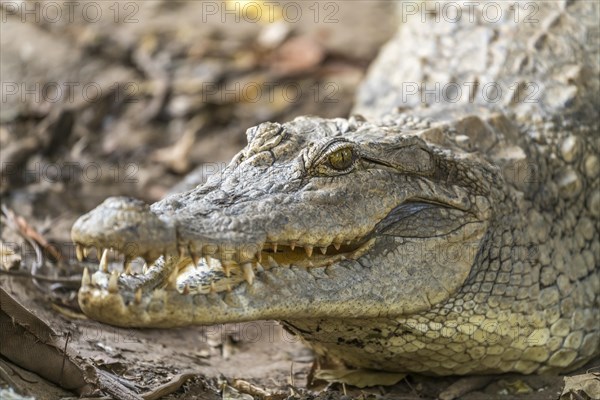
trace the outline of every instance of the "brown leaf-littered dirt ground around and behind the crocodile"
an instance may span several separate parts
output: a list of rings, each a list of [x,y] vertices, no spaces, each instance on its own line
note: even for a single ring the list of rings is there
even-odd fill
[[[395,31],[393,8],[2,2],[0,398],[559,398],[563,377],[407,376],[358,389],[312,379],[312,353],[274,322],[128,330],[78,308],[79,215],[108,196],[153,202],[205,179],[260,122],[348,115]],[[573,385],[597,379],[582,376]]]

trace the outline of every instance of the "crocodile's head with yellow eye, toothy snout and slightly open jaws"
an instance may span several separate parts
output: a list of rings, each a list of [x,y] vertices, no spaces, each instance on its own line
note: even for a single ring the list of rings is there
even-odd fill
[[[471,271],[498,176],[443,126],[410,121],[264,123],[202,186],[151,206],[107,199],[73,226],[78,254],[113,248],[147,264],[109,272],[103,257],[84,274],[82,309],[168,327],[394,317],[442,302]]]

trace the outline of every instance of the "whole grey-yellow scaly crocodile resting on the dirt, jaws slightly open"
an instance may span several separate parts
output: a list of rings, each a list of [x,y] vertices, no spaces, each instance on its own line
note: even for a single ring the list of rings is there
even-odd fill
[[[81,216],[78,257],[102,254],[82,310],[126,327],[277,320],[385,371],[597,356],[599,3],[483,3],[498,19],[416,4],[399,4],[350,117],[262,123],[205,184]]]

